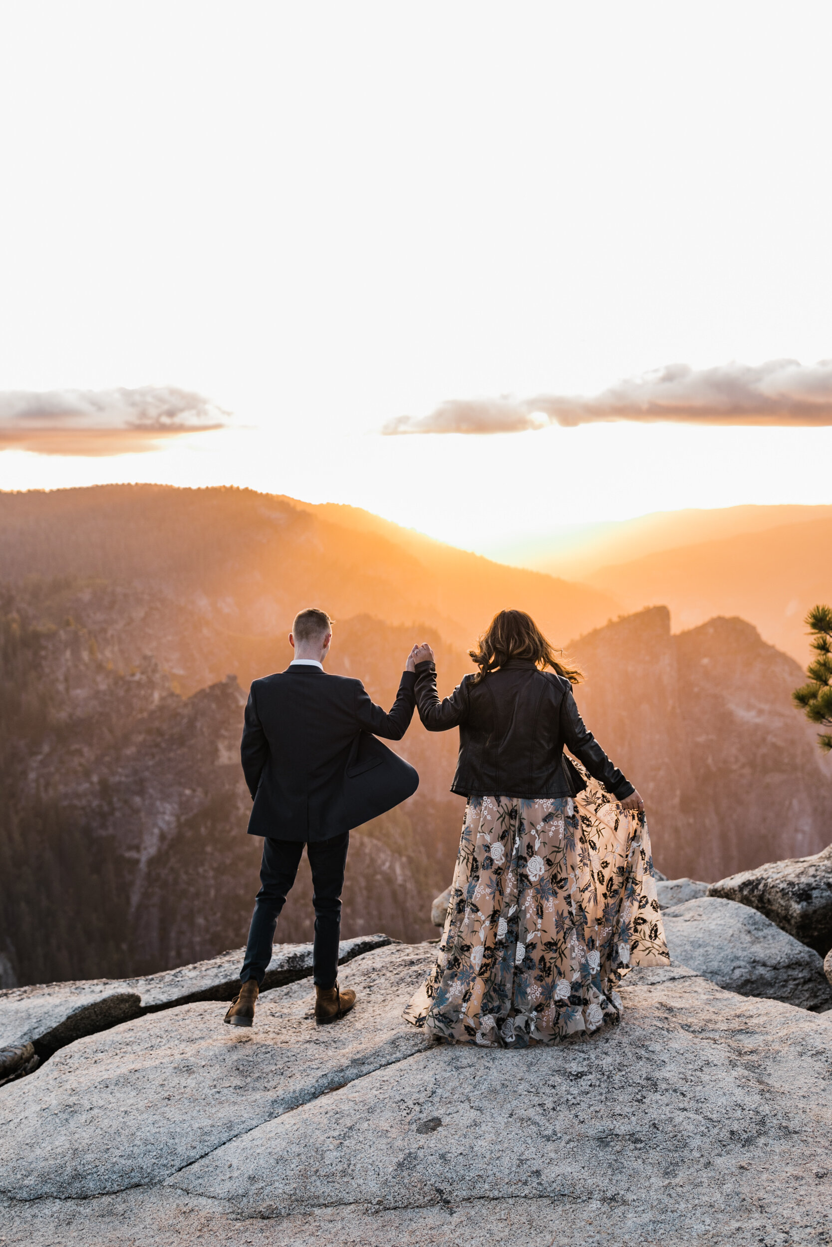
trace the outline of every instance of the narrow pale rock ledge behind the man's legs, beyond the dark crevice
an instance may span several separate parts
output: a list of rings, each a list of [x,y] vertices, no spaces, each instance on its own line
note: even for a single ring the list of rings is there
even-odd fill
[[[342,940],[339,963],[389,944],[388,935]],[[244,949],[207,961],[163,970],[143,979],[91,979],[47,983],[0,991],[0,1047],[34,1044],[40,1060],[85,1035],[95,1035],[145,1013],[193,1000],[231,1000],[239,990]],[[276,944],[266,971],[266,989],[312,974],[312,944]],[[0,1074],[0,1077],[2,1075]]]

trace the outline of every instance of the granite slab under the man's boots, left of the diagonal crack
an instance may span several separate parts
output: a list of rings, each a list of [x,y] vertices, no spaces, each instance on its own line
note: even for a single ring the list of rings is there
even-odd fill
[[[427,1045],[402,1020],[435,956],[392,945],[351,964],[358,993],[317,1026],[309,978],[261,995],[251,1029],[223,1025],[220,1001],[132,1019],[61,1049],[0,1089],[0,1192],[92,1198],[161,1182],[183,1165]]]

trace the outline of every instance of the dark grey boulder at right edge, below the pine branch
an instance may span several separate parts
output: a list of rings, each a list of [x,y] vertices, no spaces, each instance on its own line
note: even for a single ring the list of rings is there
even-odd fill
[[[712,883],[707,894],[758,909],[821,956],[832,948],[832,844],[813,857],[741,870]]]

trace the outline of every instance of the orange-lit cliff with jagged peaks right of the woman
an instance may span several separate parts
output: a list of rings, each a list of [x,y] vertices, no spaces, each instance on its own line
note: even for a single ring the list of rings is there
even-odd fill
[[[801,668],[750,624],[674,636],[657,606],[571,650],[579,706],[644,796],[666,874],[711,882],[832,839],[832,759],[791,705]]]

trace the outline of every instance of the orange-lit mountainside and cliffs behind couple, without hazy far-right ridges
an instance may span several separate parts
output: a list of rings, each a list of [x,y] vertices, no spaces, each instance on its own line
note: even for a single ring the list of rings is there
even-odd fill
[[[242,705],[288,662],[302,605],[337,619],[329,670],[388,705],[417,637],[450,692],[499,607],[573,636],[579,705],[642,791],[666,873],[715,879],[832,839],[832,761],[790,701],[801,668],[740,619],[676,636],[664,607],[606,622],[616,604],[596,587],[352,508],[223,489],[0,495],[0,581],[2,985],[147,973],[244,940],[259,842]],[[353,834],[346,936],[428,938],[450,879],[457,733],[417,721],[399,748],[422,782]],[[278,939],[311,930],[304,867]]]

